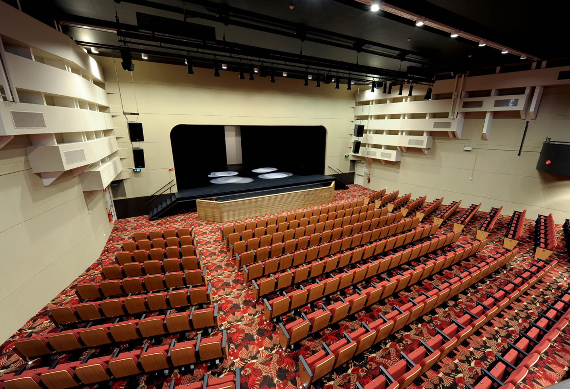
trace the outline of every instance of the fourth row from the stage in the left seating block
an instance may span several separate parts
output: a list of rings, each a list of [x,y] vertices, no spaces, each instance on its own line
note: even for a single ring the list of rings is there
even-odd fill
[[[163,261],[150,260],[129,262],[124,265],[105,265],[101,268],[101,274],[105,279],[121,279],[127,277],[141,277],[148,274],[161,274],[168,272],[181,272],[182,270],[202,270],[202,256],[190,256],[182,258],[166,258]]]

